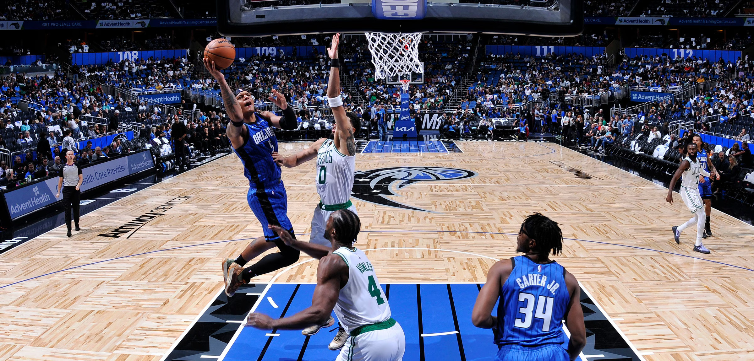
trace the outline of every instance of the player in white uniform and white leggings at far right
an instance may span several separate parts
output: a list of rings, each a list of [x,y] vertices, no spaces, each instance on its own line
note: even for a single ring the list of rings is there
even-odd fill
[[[665,201],[673,204],[673,188],[676,187],[676,182],[682,177],[681,180],[681,199],[683,203],[686,203],[686,208],[691,212],[691,219],[682,225],[673,226],[673,237],[676,239],[676,243],[681,244],[681,232],[697,224],[697,242],[694,246],[695,252],[709,254],[710,249],[707,249],[702,244],[702,236],[704,234],[704,219],[705,214],[702,210],[704,203],[702,197],[699,194],[699,175],[709,177],[710,173],[702,168],[701,162],[697,159],[697,145],[693,142],[686,145],[686,158],[683,159],[678,166],[678,170],[673,174],[673,179],[670,179],[670,188],[667,190],[667,197]],[[683,176],[682,176],[683,175]],[[709,181],[708,181],[709,182]]]

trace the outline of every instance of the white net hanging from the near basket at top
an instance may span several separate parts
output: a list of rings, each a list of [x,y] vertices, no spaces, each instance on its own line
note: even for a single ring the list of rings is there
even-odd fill
[[[418,50],[421,32],[365,32],[364,35],[369,41],[376,79],[424,72]]]

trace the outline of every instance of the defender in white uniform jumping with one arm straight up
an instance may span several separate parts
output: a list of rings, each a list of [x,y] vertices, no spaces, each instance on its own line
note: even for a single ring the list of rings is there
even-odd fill
[[[361,127],[358,115],[345,112],[343,100],[340,96],[340,74],[338,59],[338,42],[340,34],[333,36],[333,44],[327,48],[330,57],[330,75],[327,84],[327,98],[330,109],[333,109],[335,126],[333,126],[333,138],[320,138],[312,143],[309,148],[298,154],[283,157],[273,153],[272,157],[277,164],[285,167],[296,167],[314,157],[317,157],[317,168],[314,173],[317,193],[320,194],[320,203],[314,209],[311,218],[311,237],[309,242],[329,246],[330,242],[325,238],[325,225],[330,214],[336,210],[351,210],[356,213],[356,207],[351,203],[351,189],[354,188],[354,171],[356,170],[356,142],[354,133]],[[302,331],[305,336],[311,336],[319,332],[322,327],[333,326],[335,320],[329,318],[326,323],[311,326]],[[343,347],[348,335],[345,329],[339,328],[333,342],[329,344],[330,350],[338,350]]]

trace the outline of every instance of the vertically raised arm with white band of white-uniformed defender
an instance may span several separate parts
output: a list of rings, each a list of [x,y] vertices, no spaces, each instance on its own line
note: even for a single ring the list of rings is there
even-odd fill
[[[351,125],[351,119],[345,115],[343,108],[343,99],[340,96],[340,59],[338,59],[338,43],[340,33],[333,35],[333,44],[327,48],[327,54],[330,57],[330,76],[327,81],[327,98],[330,109],[333,109],[335,117],[336,131],[333,143],[342,154],[356,154],[356,141],[354,140],[354,130]],[[357,129],[358,130],[358,129]]]

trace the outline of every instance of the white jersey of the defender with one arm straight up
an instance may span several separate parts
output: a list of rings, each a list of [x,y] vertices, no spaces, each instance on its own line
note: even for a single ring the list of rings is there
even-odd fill
[[[317,151],[317,193],[325,205],[348,202],[354,188],[356,156],[345,155],[327,139]]]

